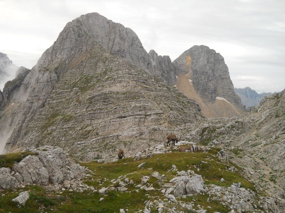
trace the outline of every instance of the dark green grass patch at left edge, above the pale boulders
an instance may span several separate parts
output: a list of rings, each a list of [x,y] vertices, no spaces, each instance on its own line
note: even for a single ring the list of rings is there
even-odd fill
[[[34,152],[25,151],[25,152],[8,153],[0,155],[0,167],[12,168],[15,163],[20,162],[28,155],[37,155],[37,154]]]

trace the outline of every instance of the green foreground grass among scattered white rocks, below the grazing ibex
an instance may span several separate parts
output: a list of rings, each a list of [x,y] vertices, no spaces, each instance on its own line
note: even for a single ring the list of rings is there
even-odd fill
[[[212,154],[211,154],[212,153]],[[135,184],[140,184],[141,178],[144,175],[150,175],[153,171],[159,172],[161,175],[165,174],[165,178],[168,182],[172,179],[176,172],[167,172],[171,169],[172,164],[175,164],[178,171],[181,170],[194,170],[195,173],[202,175],[205,184],[216,184],[222,186],[230,186],[232,183],[241,182],[244,188],[250,188],[254,190],[254,184],[244,179],[239,173],[240,169],[238,166],[231,162],[221,162],[219,158],[215,155],[216,150],[212,149],[209,153],[178,153],[172,152],[167,154],[156,154],[150,158],[143,158],[138,161],[133,161],[131,158],[125,158],[120,161],[110,162],[110,163],[97,163],[88,162],[81,163],[84,166],[88,166],[95,175],[89,177],[85,180],[85,183],[92,185],[97,189],[103,186],[110,185],[111,179],[117,179],[121,175],[126,175],[134,172],[133,174],[127,175],[129,180],[134,180]],[[145,162],[143,168],[137,168],[137,166]],[[238,168],[236,172],[230,172],[226,169],[235,166]],[[153,170],[148,170],[148,168],[153,168]],[[199,168],[199,171],[198,171]],[[219,170],[220,169],[220,170]],[[92,180],[93,178],[93,180]],[[220,181],[224,178],[226,181],[223,183]],[[98,180],[102,182],[99,185]],[[156,189],[161,188],[156,178],[150,179],[148,183],[152,183],[153,187]],[[148,185],[148,184],[147,184]],[[31,195],[30,199],[27,201],[26,205],[17,208],[17,205],[12,202],[12,198],[15,198],[20,191],[6,190],[0,193],[5,194],[1,196],[0,212],[119,212],[119,209],[129,209],[129,212],[134,212],[139,209],[143,209],[145,200],[155,200],[153,198],[148,198],[148,195],[158,196],[156,200],[161,198],[164,199],[162,193],[159,190],[145,192],[140,190],[139,193],[135,192],[134,186],[128,186],[130,193],[119,193],[110,192],[108,196],[101,195],[97,192],[85,191],[83,193],[79,192],[69,192],[64,191],[62,194],[54,192],[46,192],[45,189],[39,186],[28,186],[24,189],[31,190],[29,193]],[[100,198],[104,197],[103,201],[99,201]],[[193,201],[195,206],[200,204],[201,206],[211,206],[208,209],[208,213],[219,211],[219,212],[229,212],[227,207],[222,206],[217,201],[207,201],[208,195],[198,195],[187,197],[186,199],[180,199],[181,201],[191,202]],[[61,204],[62,203],[62,204]],[[180,205],[176,204],[176,207],[181,211],[186,211]],[[45,207],[45,209],[43,209]],[[42,210],[40,210],[42,209]],[[157,211],[157,210],[156,210]],[[187,210],[188,211],[188,210]],[[187,212],[186,211],[186,212]],[[189,212],[189,211],[188,211]]]

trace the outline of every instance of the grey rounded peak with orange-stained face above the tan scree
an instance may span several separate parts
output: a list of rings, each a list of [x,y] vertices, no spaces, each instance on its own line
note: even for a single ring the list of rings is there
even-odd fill
[[[224,58],[207,46],[193,46],[173,62],[175,73],[188,74],[197,94],[210,102],[222,97],[243,109]]]

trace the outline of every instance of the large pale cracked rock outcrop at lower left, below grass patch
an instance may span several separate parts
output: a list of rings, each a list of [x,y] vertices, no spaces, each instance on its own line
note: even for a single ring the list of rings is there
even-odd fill
[[[1,188],[8,189],[27,183],[58,185],[65,183],[64,181],[70,182],[87,171],[85,167],[66,158],[66,153],[59,147],[44,146],[37,149],[31,147],[29,151],[33,151],[37,156],[26,156],[15,164],[12,170],[0,168]]]

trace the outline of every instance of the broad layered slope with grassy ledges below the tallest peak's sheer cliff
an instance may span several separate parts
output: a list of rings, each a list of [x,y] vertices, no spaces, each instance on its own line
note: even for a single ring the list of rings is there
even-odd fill
[[[14,103],[0,111],[7,150],[50,144],[94,159],[165,141],[178,125],[203,117],[194,101],[113,53],[116,45],[103,48],[93,29],[98,15],[69,22],[31,71],[5,86]]]

